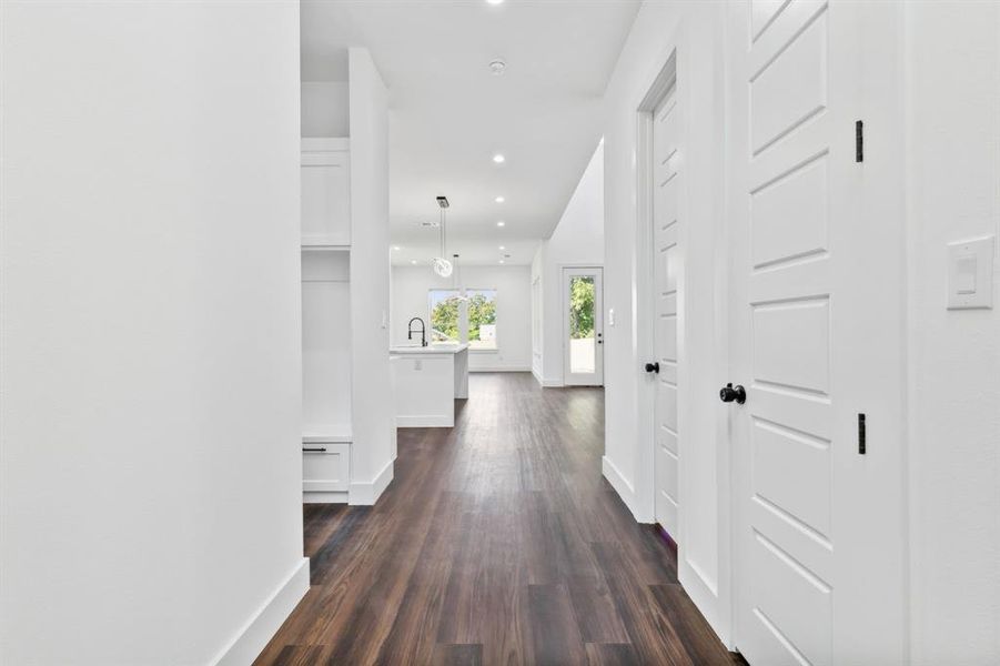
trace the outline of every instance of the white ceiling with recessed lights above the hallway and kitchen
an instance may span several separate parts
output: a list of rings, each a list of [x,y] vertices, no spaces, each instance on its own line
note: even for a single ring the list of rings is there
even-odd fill
[[[600,139],[600,97],[638,6],[303,0],[302,80],[345,80],[345,49],[361,46],[390,88],[394,263],[438,253],[437,230],[420,226],[437,220],[438,194],[462,263],[531,262]]]

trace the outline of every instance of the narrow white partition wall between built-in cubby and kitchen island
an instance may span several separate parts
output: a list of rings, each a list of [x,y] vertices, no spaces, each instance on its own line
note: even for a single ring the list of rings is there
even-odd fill
[[[392,480],[395,405],[388,365],[388,91],[365,49],[351,79],[351,503],[372,504]],[[346,321],[345,321],[346,323]]]

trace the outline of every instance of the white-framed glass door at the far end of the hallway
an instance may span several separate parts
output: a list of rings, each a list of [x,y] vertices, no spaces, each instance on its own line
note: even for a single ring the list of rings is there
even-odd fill
[[[604,383],[602,270],[563,269],[563,383]]]

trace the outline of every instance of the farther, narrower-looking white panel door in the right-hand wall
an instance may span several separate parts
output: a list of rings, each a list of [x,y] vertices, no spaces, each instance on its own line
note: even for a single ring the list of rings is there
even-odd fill
[[[680,112],[676,90],[670,90],[653,111],[653,349],[656,389],[654,458],[656,522],[677,539],[678,432],[677,432],[677,296],[680,274],[678,246],[680,220],[678,196],[678,145]]]

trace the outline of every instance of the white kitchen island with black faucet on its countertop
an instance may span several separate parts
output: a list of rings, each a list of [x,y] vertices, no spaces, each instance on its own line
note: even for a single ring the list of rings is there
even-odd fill
[[[452,427],[455,401],[468,397],[468,345],[431,344],[388,350],[400,427]]]

